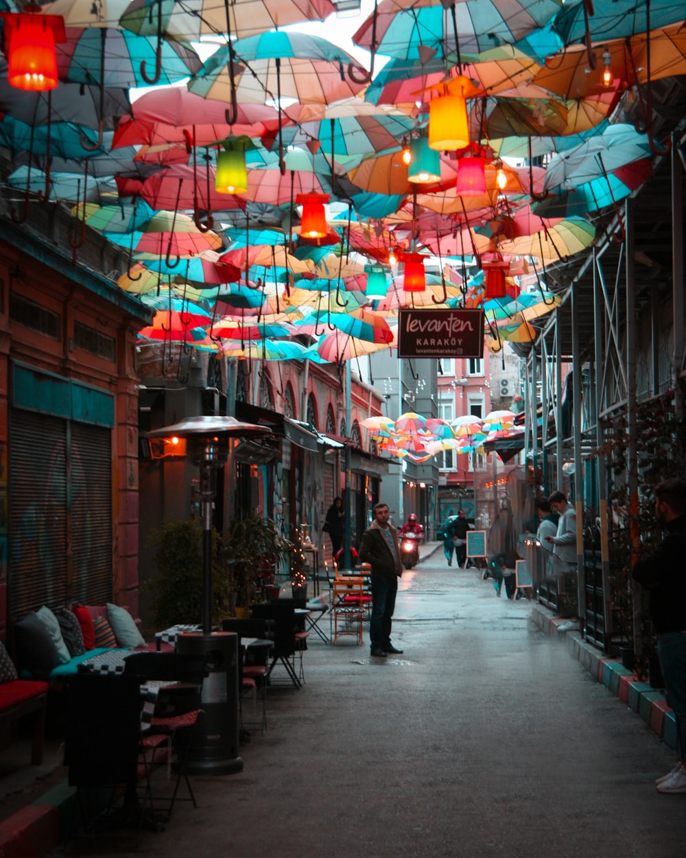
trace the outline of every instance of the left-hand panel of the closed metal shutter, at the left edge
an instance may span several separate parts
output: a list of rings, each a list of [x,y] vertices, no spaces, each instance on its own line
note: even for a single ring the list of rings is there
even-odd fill
[[[9,615],[67,593],[67,422],[10,411]]]

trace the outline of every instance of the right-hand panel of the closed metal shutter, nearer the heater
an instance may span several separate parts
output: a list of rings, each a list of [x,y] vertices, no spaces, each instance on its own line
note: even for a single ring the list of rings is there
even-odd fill
[[[71,423],[71,599],[112,601],[111,430]]]

